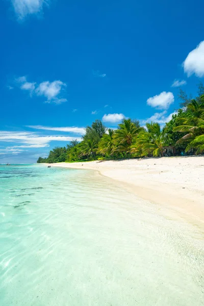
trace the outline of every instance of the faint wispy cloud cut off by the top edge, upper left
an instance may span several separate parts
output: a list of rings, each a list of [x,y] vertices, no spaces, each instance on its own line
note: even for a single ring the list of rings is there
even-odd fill
[[[48,1],[44,0],[11,0],[11,2],[19,19],[23,19],[29,14],[40,13],[43,5],[48,4]]]

